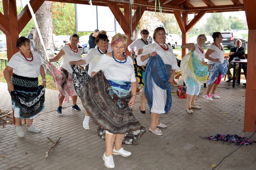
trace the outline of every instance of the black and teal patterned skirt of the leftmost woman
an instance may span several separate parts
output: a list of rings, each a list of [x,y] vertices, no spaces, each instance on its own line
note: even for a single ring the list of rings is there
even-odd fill
[[[10,92],[12,107],[20,108],[20,118],[27,119],[44,110],[45,88],[38,86],[38,78],[12,75],[14,91]]]

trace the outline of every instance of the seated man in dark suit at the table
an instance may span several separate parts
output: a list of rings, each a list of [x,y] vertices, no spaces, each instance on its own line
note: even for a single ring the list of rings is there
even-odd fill
[[[230,48],[230,52],[229,52],[229,66],[228,66],[228,80],[227,82],[230,82],[232,80],[232,74],[230,72],[231,68],[234,68],[234,63],[230,63],[232,60],[235,60],[236,58],[239,59],[245,59],[244,54],[245,54],[245,50],[246,48],[242,46],[242,41],[241,40],[236,40],[236,47],[231,47]],[[242,68],[244,70],[244,76],[246,78],[246,66],[247,64],[242,64]],[[238,73],[238,69],[239,69],[239,64],[236,64],[236,73]],[[236,74],[236,80],[238,80],[238,74]]]

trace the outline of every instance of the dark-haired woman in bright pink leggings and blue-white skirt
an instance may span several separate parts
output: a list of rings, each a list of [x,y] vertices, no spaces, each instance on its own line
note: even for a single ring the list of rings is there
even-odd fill
[[[225,50],[220,44],[223,39],[221,33],[214,32],[212,38],[214,42],[208,47],[205,53],[205,58],[208,59],[207,63],[212,65],[212,69],[209,71],[208,87],[204,94],[204,98],[210,101],[212,101],[212,98],[220,98],[215,92],[220,84],[221,78],[227,73],[228,60],[226,58],[229,58],[225,56]]]

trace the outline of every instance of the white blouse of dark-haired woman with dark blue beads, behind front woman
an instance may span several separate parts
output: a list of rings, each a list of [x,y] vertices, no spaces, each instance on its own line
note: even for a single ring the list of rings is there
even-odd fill
[[[109,49],[109,48],[108,48]],[[99,49],[100,50],[100,49]],[[100,50],[101,53],[103,53]],[[98,60],[100,59],[101,55],[100,52],[98,51],[98,48],[91,48],[88,52],[88,54],[82,58],[82,60],[85,60],[86,64],[81,65],[82,67],[85,67],[89,64],[89,69],[88,69],[88,74],[91,75],[92,70],[96,66]],[[107,50],[107,53],[110,52]]]

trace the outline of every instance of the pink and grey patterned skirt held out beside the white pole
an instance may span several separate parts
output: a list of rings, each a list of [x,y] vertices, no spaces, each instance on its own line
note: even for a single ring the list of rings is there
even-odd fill
[[[73,84],[73,75],[62,67],[58,70],[50,62],[47,62],[47,65],[50,69],[53,81],[59,90],[58,99],[60,99],[62,93],[65,96],[63,102],[70,101],[72,96],[77,95]]]

